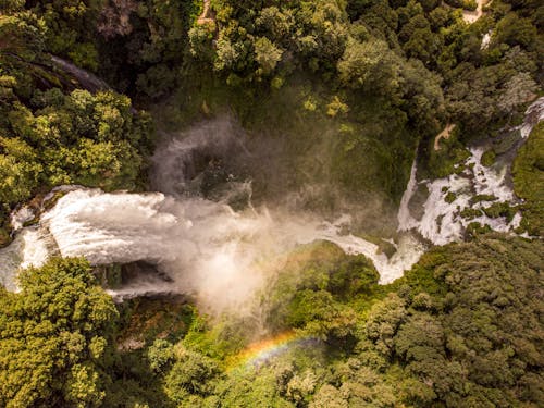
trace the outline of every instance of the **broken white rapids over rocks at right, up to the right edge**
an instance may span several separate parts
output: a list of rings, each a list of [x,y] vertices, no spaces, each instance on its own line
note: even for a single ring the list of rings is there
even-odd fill
[[[526,111],[523,123],[512,129],[519,131],[521,138],[527,138],[536,123],[544,119],[544,98],[540,98]],[[435,245],[445,245],[461,240],[467,226],[472,222],[489,225],[492,230],[503,233],[512,233],[521,221],[517,213],[508,222],[505,218],[490,218],[481,214],[473,219],[461,217],[463,209],[481,210],[494,202],[517,205],[511,186],[507,182],[509,166],[506,163],[495,163],[490,168],[481,163],[485,149],[472,147],[470,157],[465,162],[461,174],[452,174],[448,177],[437,178],[432,182],[417,182],[416,163],[412,165],[410,181],[403,196],[398,212],[398,231],[416,230],[424,238]],[[423,203],[423,215],[417,220],[412,217],[409,202],[417,191],[418,185],[426,186],[429,197]],[[448,193],[455,195],[452,202],[446,201]],[[471,203],[471,198],[477,195],[489,195],[495,199]]]

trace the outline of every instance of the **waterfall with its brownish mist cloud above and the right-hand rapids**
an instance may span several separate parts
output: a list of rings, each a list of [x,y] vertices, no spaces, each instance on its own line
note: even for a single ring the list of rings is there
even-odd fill
[[[0,250],[1,281],[16,289],[18,268],[38,267],[54,255],[83,256],[94,265],[141,262],[145,268],[109,289],[113,297],[176,294],[211,314],[251,314],[255,297],[298,245],[329,240],[346,254],[362,254],[385,284],[419,260],[426,248],[421,237],[437,245],[462,238],[468,221],[459,208],[470,206],[466,185],[478,193],[500,190],[503,201],[514,199],[505,172],[481,165],[481,149],[471,149],[467,174],[433,182],[417,181],[415,162],[396,214],[398,231],[378,238],[388,237],[395,252],[387,257],[376,239],[357,234],[361,225],[391,222],[387,211],[376,211],[383,201],[350,200],[326,177],[320,184],[290,183],[286,146],[282,139],[248,135],[228,116],[162,135],[152,158],[153,193],[61,187],[65,194],[29,227],[22,227],[28,214],[21,209],[16,239]],[[307,175],[312,178],[319,177]],[[409,205],[422,183],[431,194],[416,218]],[[449,190],[457,194],[454,202],[442,197]],[[505,232],[519,223],[519,217],[481,219]]]

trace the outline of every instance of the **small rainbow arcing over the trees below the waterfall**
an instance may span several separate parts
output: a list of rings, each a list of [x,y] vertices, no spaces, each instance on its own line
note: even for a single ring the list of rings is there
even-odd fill
[[[300,336],[293,331],[288,331],[280,333],[272,338],[252,343],[232,359],[228,364],[230,370],[260,367],[271,358],[284,354],[289,347],[312,339],[313,337]]]

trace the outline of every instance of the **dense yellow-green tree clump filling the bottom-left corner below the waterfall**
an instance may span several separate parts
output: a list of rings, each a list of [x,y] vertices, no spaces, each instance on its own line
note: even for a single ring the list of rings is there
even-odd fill
[[[0,403],[99,406],[110,380],[118,311],[87,261],[53,259],[0,293]]]

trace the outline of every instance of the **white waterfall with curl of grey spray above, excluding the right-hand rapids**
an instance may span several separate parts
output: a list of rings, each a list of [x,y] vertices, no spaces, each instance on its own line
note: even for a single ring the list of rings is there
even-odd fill
[[[403,236],[397,252],[387,259],[375,244],[345,234],[349,217],[331,223],[282,208],[256,210],[250,202],[235,212],[226,202],[243,194],[249,200],[249,182],[227,177],[215,188],[214,200],[202,198],[200,172],[210,158],[247,153],[236,132],[232,122],[220,120],[160,146],[152,180],[166,194],[57,188],[65,195],[41,214],[39,225],[22,228],[15,242],[0,250],[2,282],[15,288],[18,268],[39,265],[51,254],[84,256],[92,264],[146,261],[170,281],[158,274],[139,276],[110,293],[191,294],[205,306],[222,310],[240,307],[267,277],[261,265],[299,244],[326,239],[347,254],[363,254],[374,262],[381,283],[401,276],[419,259],[423,246],[410,236]]]

